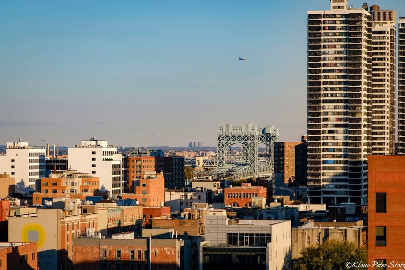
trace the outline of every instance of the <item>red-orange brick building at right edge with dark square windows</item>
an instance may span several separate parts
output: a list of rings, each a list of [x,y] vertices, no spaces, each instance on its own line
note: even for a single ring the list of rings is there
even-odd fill
[[[405,261],[405,156],[370,156],[368,164],[369,263]]]

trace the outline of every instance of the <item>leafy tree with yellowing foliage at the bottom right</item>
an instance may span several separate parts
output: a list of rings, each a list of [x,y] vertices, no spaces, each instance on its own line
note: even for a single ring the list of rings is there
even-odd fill
[[[367,264],[367,250],[349,242],[326,241],[316,247],[304,248],[301,257],[293,265],[293,270],[319,269],[319,270],[346,270],[347,262],[360,262]],[[358,267],[357,270],[366,270],[367,267]]]

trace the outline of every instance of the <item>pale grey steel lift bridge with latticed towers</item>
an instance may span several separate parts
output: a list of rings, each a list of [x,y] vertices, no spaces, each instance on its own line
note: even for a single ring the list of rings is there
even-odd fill
[[[252,123],[234,126],[225,123],[218,128],[217,168],[213,171],[220,178],[247,178],[272,176],[274,172],[274,142],[278,141],[278,129],[274,125],[257,128]],[[263,143],[266,153],[259,155],[258,145]],[[228,160],[228,150],[234,144],[241,145],[241,156]]]

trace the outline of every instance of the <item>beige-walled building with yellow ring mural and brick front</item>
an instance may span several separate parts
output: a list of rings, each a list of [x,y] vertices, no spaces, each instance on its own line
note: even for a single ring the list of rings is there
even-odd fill
[[[60,209],[37,209],[35,214],[9,218],[9,241],[36,242],[38,267],[71,267],[72,239],[95,236],[97,214],[64,216]]]

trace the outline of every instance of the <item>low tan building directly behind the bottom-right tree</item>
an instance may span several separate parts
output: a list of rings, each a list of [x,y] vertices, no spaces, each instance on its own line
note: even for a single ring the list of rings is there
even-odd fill
[[[316,247],[325,241],[337,240],[354,243],[357,246],[367,244],[367,229],[362,221],[358,222],[313,222],[291,229],[292,259],[301,257],[304,248]]]

